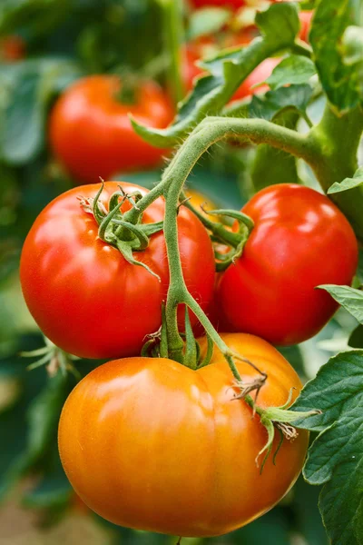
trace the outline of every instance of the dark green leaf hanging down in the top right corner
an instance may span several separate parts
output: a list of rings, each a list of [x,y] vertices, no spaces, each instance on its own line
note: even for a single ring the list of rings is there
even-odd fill
[[[363,98],[361,72],[346,64],[340,45],[348,25],[354,24],[352,5],[353,0],[320,0],[309,34],[321,84],[338,112],[355,108]]]

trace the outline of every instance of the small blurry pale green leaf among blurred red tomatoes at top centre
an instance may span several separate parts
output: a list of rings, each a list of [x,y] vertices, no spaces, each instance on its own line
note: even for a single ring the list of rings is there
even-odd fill
[[[221,7],[206,7],[195,10],[189,20],[188,38],[213,35],[221,30],[231,17],[231,12]]]

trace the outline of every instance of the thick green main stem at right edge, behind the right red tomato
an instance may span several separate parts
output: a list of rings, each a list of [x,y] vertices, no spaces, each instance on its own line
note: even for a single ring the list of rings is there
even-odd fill
[[[329,104],[320,123],[311,129],[309,141],[317,148],[310,163],[325,192],[332,183],[352,177],[358,168],[358,145],[363,131],[363,112],[357,108],[338,117]],[[363,240],[363,187],[331,196]]]

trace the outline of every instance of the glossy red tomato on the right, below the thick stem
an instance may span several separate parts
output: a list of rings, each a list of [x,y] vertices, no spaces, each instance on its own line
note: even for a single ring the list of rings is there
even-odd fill
[[[242,209],[255,222],[243,255],[223,273],[221,312],[231,331],[277,345],[303,342],[338,308],[320,284],[350,284],[358,245],[345,216],[322,195],[296,184],[270,186]]]

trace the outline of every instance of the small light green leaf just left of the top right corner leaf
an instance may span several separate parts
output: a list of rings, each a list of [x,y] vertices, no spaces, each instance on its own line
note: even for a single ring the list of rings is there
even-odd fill
[[[315,64],[308,57],[292,54],[274,68],[266,83],[271,89],[279,89],[287,84],[307,84],[316,73]]]

